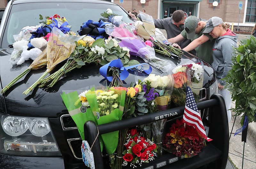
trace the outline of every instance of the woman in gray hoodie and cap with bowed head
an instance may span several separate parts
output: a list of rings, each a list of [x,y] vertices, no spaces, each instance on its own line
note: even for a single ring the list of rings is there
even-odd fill
[[[225,100],[228,122],[231,118],[231,111],[228,110],[231,108],[231,95],[227,89],[224,89],[226,82],[221,79],[226,77],[228,71],[233,65],[231,61],[231,56],[233,53],[232,47],[236,47],[238,37],[236,33],[228,29],[229,26],[230,25],[228,23],[223,23],[221,18],[212,17],[206,22],[206,29],[203,32],[209,33],[213,39],[216,39],[212,48],[212,67],[217,74],[219,94],[221,94]]]

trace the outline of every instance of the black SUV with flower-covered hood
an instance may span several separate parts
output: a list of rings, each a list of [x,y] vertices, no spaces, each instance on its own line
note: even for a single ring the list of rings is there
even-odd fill
[[[12,79],[31,64],[25,61],[20,66],[8,63],[12,53],[13,35],[24,26],[38,25],[39,14],[66,17],[72,30],[79,30],[88,19],[98,21],[100,13],[110,8],[122,15],[123,21],[131,23],[128,13],[119,5],[99,0],[12,0],[8,3],[0,26],[0,84],[4,88]],[[186,63],[195,56],[184,52],[181,60],[166,58],[173,67]],[[144,63],[140,58],[139,62]],[[61,66],[61,64],[60,64]],[[4,94],[0,95],[0,168],[79,168],[85,167],[81,155],[81,137],[76,124],[69,116],[60,94],[63,90],[77,90],[97,85],[103,79],[100,65],[94,64],[75,69],[50,89],[35,88],[29,95],[22,92],[30,87],[45,71],[44,68],[30,71]],[[161,72],[153,67],[154,74]],[[126,87],[134,81],[130,74]],[[205,99],[216,93],[217,80],[212,67],[204,62]],[[41,136],[33,130],[33,124],[42,122],[49,126]],[[8,126],[12,129],[6,130]],[[29,128],[29,130],[28,130]],[[9,132],[12,130],[12,132]]]

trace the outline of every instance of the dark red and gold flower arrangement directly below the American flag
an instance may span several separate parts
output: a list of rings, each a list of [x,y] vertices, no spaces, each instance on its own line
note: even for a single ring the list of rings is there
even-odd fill
[[[166,151],[170,151],[176,156],[184,155],[185,158],[190,158],[202,151],[205,146],[205,139],[201,137],[196,129],[186,125],[182,119],[177,119],[173,123],[170,131],[166,134],[163,140],[163,146]]]

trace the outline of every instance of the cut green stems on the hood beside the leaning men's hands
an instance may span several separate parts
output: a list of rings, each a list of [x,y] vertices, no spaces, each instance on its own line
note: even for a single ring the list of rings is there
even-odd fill
[[[181,49],[173,47],[172,45],[165,45],[165,44],[161,44],[157,41],[153,41],[153,44],[156,46],[155,51],[157,53],[162,53],[166,56],[171,57],[172,53],[175,54],[177,57],[181,58],[181,55],[183,54],[183,52],[181,51]]]

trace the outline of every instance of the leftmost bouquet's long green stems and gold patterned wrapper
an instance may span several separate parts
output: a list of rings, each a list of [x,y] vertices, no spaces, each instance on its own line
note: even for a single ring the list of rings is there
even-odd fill
[[[17,77],[15,77],[10,83],[8,83],[2,90],[1,93],[6,92],[12,85],[14,85],[20,78],[25,76],[30,70],[35,70],[42,68],[46,66],[47,60],[46,60],[46,49],[43,50],[43,52],[31,63],[31,65],[24,70],[21,74],[19,74]]]

